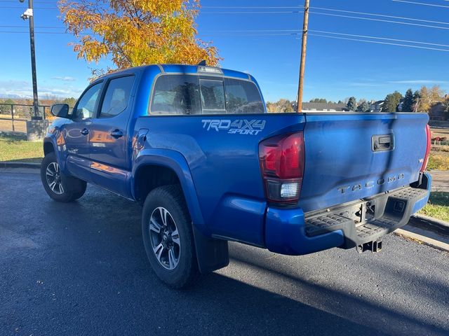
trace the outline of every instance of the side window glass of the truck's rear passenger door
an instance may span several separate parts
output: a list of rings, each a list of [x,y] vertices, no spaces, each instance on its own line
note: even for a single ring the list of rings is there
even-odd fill
[[[129,104],[134,76],[119,77],[109,80],[99,118],[114,117],[126,110]]]

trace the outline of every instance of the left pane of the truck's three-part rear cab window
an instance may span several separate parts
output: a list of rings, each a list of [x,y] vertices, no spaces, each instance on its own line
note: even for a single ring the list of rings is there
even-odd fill
[[[152,114],[201,114],[197,76],[163,75],[154,84]]]

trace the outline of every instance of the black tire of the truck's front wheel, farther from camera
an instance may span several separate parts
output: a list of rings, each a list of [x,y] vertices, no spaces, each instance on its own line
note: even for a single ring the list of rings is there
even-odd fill
[[[48,172],[57,176],[57,184],[51,185],[55,179],[53,179],[54,176],[48,175]],[[86,181],[72,176],[65,176],[59,171],[58,160],[53,152],[45,155],[45,158],[42,160],[41,181],[48,196],[57,202],[67,203],[78,200],[86,192]]]

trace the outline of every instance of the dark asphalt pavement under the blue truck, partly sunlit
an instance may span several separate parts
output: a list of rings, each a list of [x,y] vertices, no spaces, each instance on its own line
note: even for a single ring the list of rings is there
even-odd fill
[[[0,171],[0,335],[449,335],[449,255],[394,235],[381,253],[302,257],[231,244],[187,291],[152,273],[140,206],[97,188],[50,200]]]

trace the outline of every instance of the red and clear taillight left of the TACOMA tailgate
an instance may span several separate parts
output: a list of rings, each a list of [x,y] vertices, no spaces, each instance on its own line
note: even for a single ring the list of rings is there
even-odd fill
[[[304,173],[302,132],[262,141],[259,159],[267,199],[286,204],[297,202]]]

